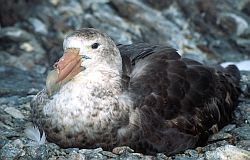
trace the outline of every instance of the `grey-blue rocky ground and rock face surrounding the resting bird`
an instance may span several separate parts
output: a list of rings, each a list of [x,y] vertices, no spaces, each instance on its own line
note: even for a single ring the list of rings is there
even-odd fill
[[[250,159],[250,72],[233,121],[206,146],[166,157],[127,147],[61,149],[24,134],[30,100],[62,55],[66,33],[94,27],[117,43],[169,44],[208,64],[250,59],[250,0],[0,0],[0,159]],[[250,66],[247,66],[250,68]],[[170,137],[171,138],[171,137]]]

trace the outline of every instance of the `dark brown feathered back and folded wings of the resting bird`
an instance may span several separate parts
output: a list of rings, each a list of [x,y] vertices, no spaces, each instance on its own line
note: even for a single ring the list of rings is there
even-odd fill
[[[146,153],[176,153],[204,142],[226,125],[237,106],[239,70],[181,58],[176,50],[147,44],[118,46],[124,90],[140,109],[142,136],[131,144]]]

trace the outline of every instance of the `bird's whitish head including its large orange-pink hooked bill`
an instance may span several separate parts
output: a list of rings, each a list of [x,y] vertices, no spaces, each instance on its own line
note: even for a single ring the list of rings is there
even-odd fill
[[[98,66],[121,70],[121,56],[113,40],[93,28],[84,28],[68,34],[63,42],[64,55],[54,65],[46,81],[52,95],[62,84],[80,72],[91,72]]]

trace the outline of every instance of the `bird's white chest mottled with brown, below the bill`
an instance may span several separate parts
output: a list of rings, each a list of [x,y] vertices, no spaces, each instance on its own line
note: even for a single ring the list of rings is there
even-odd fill
[[[43,112],[52,126],[64,129],[64,134],[84,133],[95,138],[100,133],[111,132],[112,109],[117,99],[100,85],[69,83],[46,104]]]

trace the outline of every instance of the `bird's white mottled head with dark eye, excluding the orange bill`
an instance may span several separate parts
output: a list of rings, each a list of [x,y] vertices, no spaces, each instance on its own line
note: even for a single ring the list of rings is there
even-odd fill
[[[113,40],[93,28],[76,30],[66,36],[63,49],[80,48],[82,66],[86,69],[105,65],[121,71],[121,55]]]

